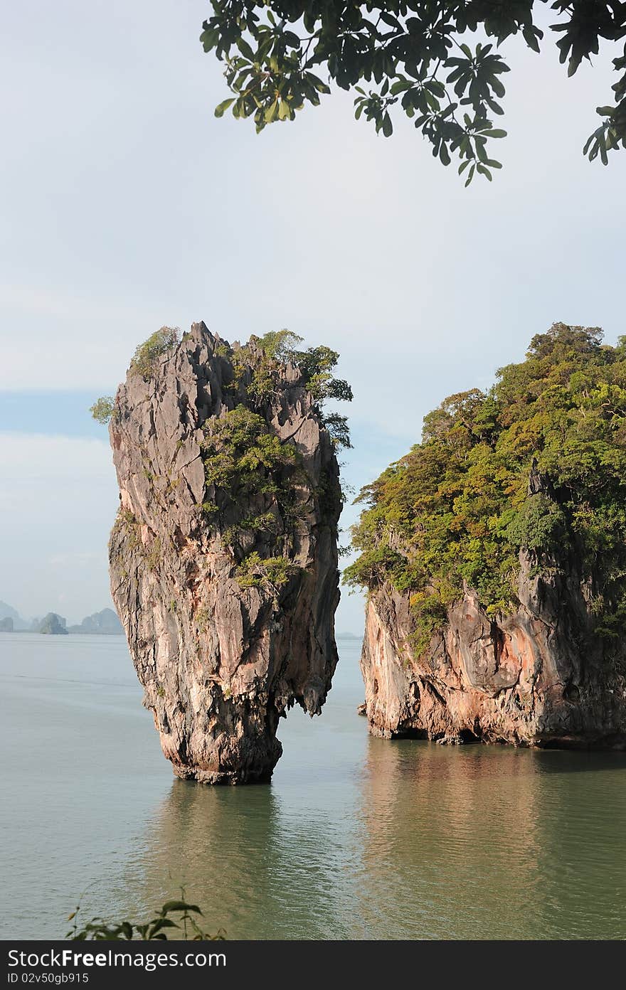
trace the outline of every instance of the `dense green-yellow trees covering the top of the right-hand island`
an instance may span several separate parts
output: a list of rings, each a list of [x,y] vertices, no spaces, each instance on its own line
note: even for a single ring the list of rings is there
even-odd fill
[[[429,413],[421,444],[362,491],[345,579],[407,593],[422,645],[464,582],[487,613],[516,608],[520,548],[541,572],[572,547],[598,631],[626,619],[626,338],[601,340],[555,324],[491,389]],[[532,471],[544,490],[529,493]]]

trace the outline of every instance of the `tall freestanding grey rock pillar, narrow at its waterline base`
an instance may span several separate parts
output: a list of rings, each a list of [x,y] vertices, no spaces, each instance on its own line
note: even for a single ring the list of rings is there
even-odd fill
[[[194,324],[110,425],[113,599],[164,755],[207,783],[267,779],[337,663],[338,463],[300,371],[263,361]]]

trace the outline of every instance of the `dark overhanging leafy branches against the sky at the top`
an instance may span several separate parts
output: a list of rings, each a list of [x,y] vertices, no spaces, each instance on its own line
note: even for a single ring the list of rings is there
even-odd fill
[[[491,179],[500,163],[494,139],[506,132],[493,123],[503,113],[502,81],[509,71],[495,50],[511,37],[539,52],[544,32],[536,14],[548,0],[211,0],[213,14],[200,41],[225,63],[238,118],[253,118],[257,131],[289,121],[305,103],[317,105],[331,84],[353,90],[355,115],[389,137],[401,109],[466,184]],[[573,75],[603,42],[613,43],[618,73],[613,102],[597,107],[601,123],[584,145],[606,164],[608,152],[626,147],[626,3],[619,0],[554,0],[561,62]],[[480,41],[471,37],[478,34]],[[322,71],[325,78],[316,74]]]

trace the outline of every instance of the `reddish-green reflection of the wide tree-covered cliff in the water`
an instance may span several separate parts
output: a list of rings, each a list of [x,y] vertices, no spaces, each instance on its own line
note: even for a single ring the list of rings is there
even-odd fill
[[[621,754],[370,739],[367,927],[386,938],[623,938],[625,771]]]

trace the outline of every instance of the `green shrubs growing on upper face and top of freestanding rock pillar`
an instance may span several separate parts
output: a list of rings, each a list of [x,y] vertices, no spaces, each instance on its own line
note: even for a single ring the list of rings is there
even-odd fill
[[[238,349],[216,348],[217,356],[232,368],[228,392],[235,405],[219,418],[209,419],[204,428],[207,497],[202,509],[207,521],[214,520],[221,527],[224,542],[239,546],[238,554],[244,552],[237,571],[242,587],[275,590],[295,572],[286,557],[262,557],[255,546],[260,538],[265,551],[271,545],[274,552],[288,552],[305,512],[305,502],[297,494],[298,488],[308,484],[300,455],[292,442],[276,436],[266,420],[267,404],[278,400],[288,384],[287,365],[298,368],[300,380],[294,383],[311,394],[314,410],[334,446],[350,446],[347,418],[324,411],[328,399],[352,399],[350,385],[332,373],[339,354],[330,347],[301,350],[301,342],[302,338],[281,330],[252,337]],[[341,499],[339,486],[330,482],[317,494],[329,512]],[[242,506],[250,511],[242,514]]]

